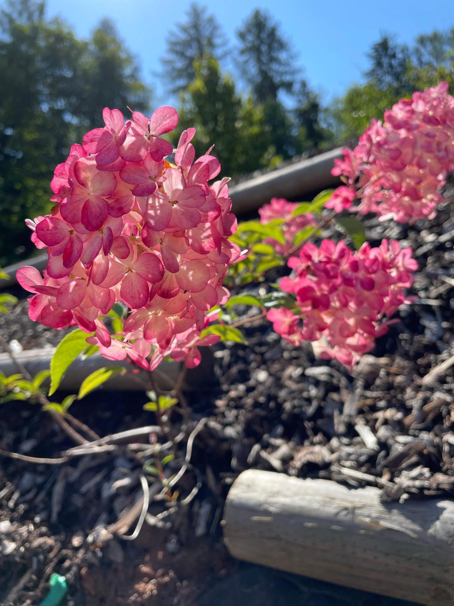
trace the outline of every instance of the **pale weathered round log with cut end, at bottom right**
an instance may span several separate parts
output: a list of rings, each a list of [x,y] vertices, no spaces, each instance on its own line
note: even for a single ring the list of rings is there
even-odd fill
[[[381,502],[375,487],[248,470],[225,506],[228,550],[248,562],[406,599],[454,604],[454,502]]]

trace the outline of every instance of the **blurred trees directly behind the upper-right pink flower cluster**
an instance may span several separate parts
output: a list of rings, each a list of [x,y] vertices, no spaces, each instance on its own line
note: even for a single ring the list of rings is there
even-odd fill
[[[418,36],[412,47],[383,36],[368,57],[364,84],[349,87],[329,111],[335,140],[341,144],[357,141],[370,119],[383,118],[384,110],[416,90],[445,80],[454,92],[454,28]]]

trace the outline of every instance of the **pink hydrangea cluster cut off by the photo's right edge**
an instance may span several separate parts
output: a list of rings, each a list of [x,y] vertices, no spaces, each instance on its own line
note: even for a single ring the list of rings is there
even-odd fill
[[[348,208],[354,198],[362,215],[377,213],[412,223],[432,219],[442,202],[439,188],[454,170],[454,97],[447,82],[412,99],[401,99],[373,120],[354,150],[345,148],[335,160],[333,175],[349,184],[339,187],[326,204],[336,211]]]

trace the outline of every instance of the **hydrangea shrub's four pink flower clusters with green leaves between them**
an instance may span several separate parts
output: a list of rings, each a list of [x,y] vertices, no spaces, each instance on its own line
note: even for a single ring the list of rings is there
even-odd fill
[[[228,178],[216,180],[219,161],[211,149],[196,158],[195,129],[183,132],[176,148],[163,138],[177,125],[174,108],[150,118],[132,112],[126,121],[105,108],[103,118],[105,126],[87,133],[56,168],[50,214],[27,222],[48,254],[44,276],[33,267],[18,271],[33,295],[33,320],[77,327],[105,358],[128,357],[154,370],[167,356],[195,367],[201,345],[241,341],[225,311],[257,305],[286,341],[317,341],[321,356],[351,368],[411,301],[406,290],[417,264],[409,248],[386,240],[371,247],[352,215],[337,220],[358,250],[344,239],[308,240],[346,210],[398,222],[435,216],[439,188],[454,168],[447,84],[373,121],[335,161],[332,172],[344,182],[336,190],[311,203],[274,198],[260,221],[239,226]],[[225,284],[246,287],[283,264],[291,275],[274,293],[229,299]]]

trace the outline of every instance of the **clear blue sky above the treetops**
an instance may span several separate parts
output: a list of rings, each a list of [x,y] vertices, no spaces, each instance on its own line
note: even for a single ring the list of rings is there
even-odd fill
[[[168,102],[156,72],[165,52],[166,33],[184,20],[190,0],[47,0],[47,15],[61,16],[77,35],[86,37],[97,21],[109,16],[142,64],[142,76],[154,104]],[[454,27],[453,0],[203,0],[231,42],[235,30],[255,8],[264,8],[281,23],[312,88],[324,101],[361,80],[366,53],[381,33],[412,42],[419,33]]]

